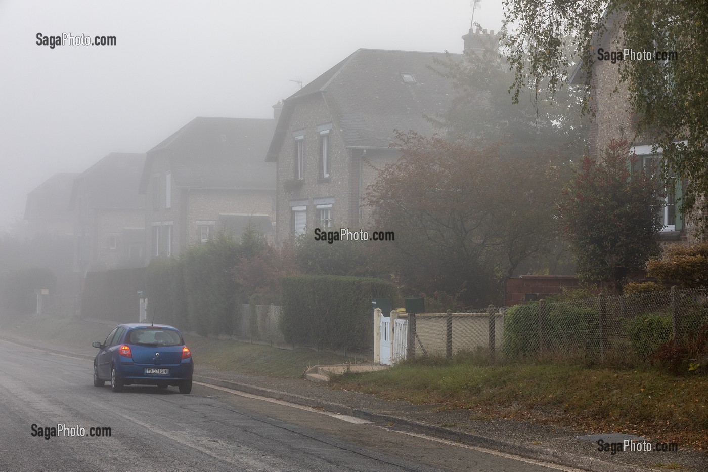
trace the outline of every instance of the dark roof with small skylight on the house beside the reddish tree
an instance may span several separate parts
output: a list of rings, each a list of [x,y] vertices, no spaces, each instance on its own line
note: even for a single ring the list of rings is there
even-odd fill
[[[462,60],[461,54],[450,57]],[[450,81],[433,70],[435,58],[444,60],[445,53],[357,50],[285,100],[268,160],[277,159],[292,107],[318,92],[347,147],[389,147],[394,130],[432,134],[435,126],[426,116],[445,113],[454,96]],[[403,74],[415,82],[405,82]]]

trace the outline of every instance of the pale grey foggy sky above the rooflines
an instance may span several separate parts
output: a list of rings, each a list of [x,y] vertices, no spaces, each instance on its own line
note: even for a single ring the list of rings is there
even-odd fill
[[[466,0],[0,2],[0,230],[27,193],[109,152],[145,152],[195,116],[271,106],[360,47],[461,52]],[[474,13],[501,26],[501,4]],[[115,46],[37,35],[115,36]]]

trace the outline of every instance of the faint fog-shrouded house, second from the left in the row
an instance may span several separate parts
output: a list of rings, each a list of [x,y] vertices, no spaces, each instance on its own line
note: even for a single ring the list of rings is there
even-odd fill
[[[81,277],[144,264],[144,198],[137,188],[145,154],[111,152],[74,179],[75,265]]]

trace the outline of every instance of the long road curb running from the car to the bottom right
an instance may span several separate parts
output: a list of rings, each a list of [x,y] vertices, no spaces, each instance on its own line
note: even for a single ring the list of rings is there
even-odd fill
[[[427,423],[404,420],[400,417],[383,415],[382,413],[371,412],[362,408],[351,408],[346,405],[342,405],[341,403],[326,402],[317,398],[304,397],[302,395],[282,392],[280,390],[271,390],[270,388],[249,385],[248,383],[225,381],[222,378],[213,378],[205,376],[193,376],[193,379],[195,381],[209,383],[214,386],[231,388],[232,390],[239,390],[241,392],[251,393],[252,395],[261,395],[263,397],[275,398],[276,400],[285,400],[290,403],[296,403],[297,405],[304,405],[310,408],[321,408],[323,410],[338,413],[340,415],[358,417],[362,420],[387,423],[392,426],[403,427],[412,432],[418,432],[422,434],[428,434],[430,436],[440,437],[442,439],[462,442],[469,446],[493,449],[495,451],[503,452],[505,454],[514,454],[516,456],[522,456],[527,459],[535,459],[537,461],[554,463],[559,466],[581,468],[590,472],[647,472],[651,470],[648,468],[625,466],[622,464],[601,461],[600,459],[594,459],[586,456],[578,456],[577,454],[558,451],[556,449],[549,449],[547,447],[517,444],[513,442],[502,441],[501,439],[492,439],[489,437],[479,436],[479,434],[472,434],[468,432],[457,431],[455,429],[428,425]]]

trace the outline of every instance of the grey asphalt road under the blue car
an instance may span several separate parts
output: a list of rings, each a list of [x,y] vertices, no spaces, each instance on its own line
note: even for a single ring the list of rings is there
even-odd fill
[[[0,471],[552,470],[205,386],[113,393],[92,386],[91,361],[4,341],[0,353]],[[33,424],[111,436],[47,440]]]

